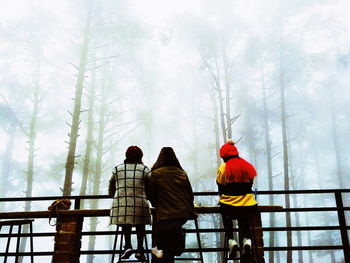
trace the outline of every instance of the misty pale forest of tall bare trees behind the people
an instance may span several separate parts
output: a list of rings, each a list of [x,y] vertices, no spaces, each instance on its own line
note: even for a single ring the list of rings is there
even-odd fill
[[[194,191],[217,191],[218,149],[230,138],[256,167],[258,191],[348,189],[348,10],[347,0],[3,1],[0,198],[105,195],[130,145],[143,150],[148,167],[163,146],[173,147]],[[343,199],[350,206],[349,195]],[[334,202],[317,194],[258,201]],[[84,203],[109,206],[109,200]],[[0,202],[0,211],[43,209],[43,203]],[[264,215],[263,224],[336,220],[331,212],[287,213]],[[200,223],[217,225],[219,217]],[[84,227],[110,226],[92,218]],[[270,246],[340,242],[332,231],[264,235]],[[98,238],[83,247],[110,246]],[[205,237],[205,244],[217,242]],[[265,252],[265,258],[345,262],[341,251],[327,250]],[[206,259],[220,262],[213,253]]]

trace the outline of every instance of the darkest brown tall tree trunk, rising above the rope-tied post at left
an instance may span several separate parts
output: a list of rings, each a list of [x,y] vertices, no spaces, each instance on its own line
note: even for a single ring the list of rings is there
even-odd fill
[[[91,13],[90,10],[87,12],[86,16],[86,26],[84,32],[83,45],[80,55],[79,69],[78,69],[78,78],[75,85],[75,96],[74,96],[74,110],[72,114],[72,124],[70,125],[70,133],[69,133],[69,150],[66,161],[66,172],[64,178],[64,186],[63,186],[63,195],[71,195],[72,193],[72,179],[73,179],[73,170],[75,165],[75,151],[78,140],[78,130],[81,113],[81,98],[83,93],[84,86],[84,77],[85,77],[85,67],[86,60],[88,54],[88,47],[90,41],[90,31],[91,31]]]

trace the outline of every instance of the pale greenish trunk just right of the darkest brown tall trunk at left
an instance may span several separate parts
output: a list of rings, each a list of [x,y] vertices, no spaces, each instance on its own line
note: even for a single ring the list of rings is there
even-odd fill
[[[87,134],[85,141],[85,156],[83,164],[83,176],[80,187],[80,195],[86,195],[87,181],[90,173],[90,159],[93,145],[94,110],[95,110],[95,86],[96,86],[96,57],[93,58],[93,72],[89,88],[89,111],[87,119]],[[81,207],[84,208],[84,200],[81,200]]]

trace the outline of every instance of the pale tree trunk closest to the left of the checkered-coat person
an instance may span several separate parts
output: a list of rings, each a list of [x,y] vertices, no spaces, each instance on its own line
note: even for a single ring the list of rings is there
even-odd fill
[[[109,85],[109,83],[108,83]],[[106,127],[106,100],[107,100],[107,94],[106,94],[106,86],[105,83],[102,84],[102,91],[101,91],[101,104],[100,104],[100,110],[99,110],[99,128],[98,128],[98,138],[97,138],[97,149],[96,149],[96,167],[95,167],[95,176],[93,178],[93,195],[98,195],[100,193],[100,181],[101,181],[101,175],[102,175],[102,157],[103,157],[103,150],[104,150],[104,132]],[[96,209],[98,208],[98,199],[92,200],[91,207]],[[91,218],[91,227],[90,231],[96,231],[97,228],[97,217]],[[89,250],[94,250],[95,248],[95,240],[96,236],[90,236],[89,237]],[[92,263],[94,262],[94,256],[88,255],[87,256],[87,262]]]

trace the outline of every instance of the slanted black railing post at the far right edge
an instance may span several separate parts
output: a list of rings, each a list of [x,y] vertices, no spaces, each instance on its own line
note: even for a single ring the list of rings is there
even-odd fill
[[[335,191],[335,201],[337,204],[337,213],[340,227],[340,235],[343,242],[344,260],[345,262],[350,262],[350,246],[349,246],[349,236],[346,230],[346,220],[345,211],[343,205],[343,199],[341,196],[341,191]]]

